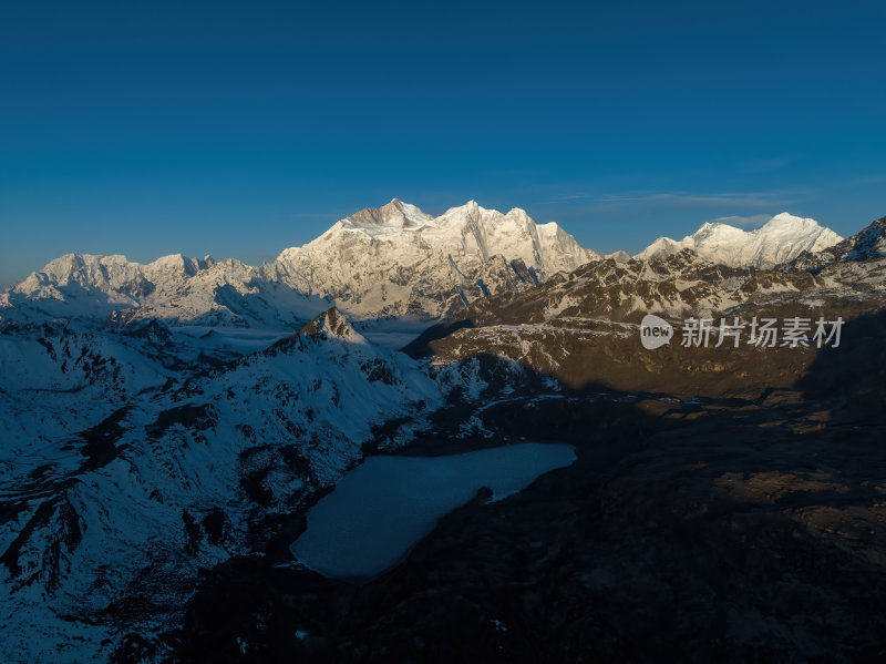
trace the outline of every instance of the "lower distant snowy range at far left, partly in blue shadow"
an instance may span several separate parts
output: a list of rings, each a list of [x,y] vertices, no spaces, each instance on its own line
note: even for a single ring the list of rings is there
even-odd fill
[[[0,320],[298,329],[330,304],[235,259],[176,254],[143,265],[125,256],[68,254],[1,293]]]

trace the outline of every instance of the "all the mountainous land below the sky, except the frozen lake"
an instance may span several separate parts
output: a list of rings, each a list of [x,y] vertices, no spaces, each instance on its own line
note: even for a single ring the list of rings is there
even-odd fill
[[[415,660],[456,640],[525,661],[558,634],[575,661],[655,634],[689,658],[753,658],[761,640],[775,658],[833,640],[864,658],[886,633],[858,614],[886,588],[884,310],[886,218],[845,239],[787,214],[704,225],[628,257],[522,210],[393,200],[257,267],[63,256],[0,294],[0,653]],[[643,350],[647,314],[677,338]],[[683,347],[692,316],[847,326],[839,348]],[[292,561],[307,510],[367,454],[527,438],[571,441],[578,461],[478,496],[382,578]],[[772,551],[793,561],[765,620],[746,579],[693,566],[693,546],[721,560],[748,542],[730,559],[746,579],[781,579]],[[835,574],[863,582],[833,594]],[[725,645],[684,637],[712,613],[672,582],[731,597]],[[855,626],[785,626],[835,612]]]

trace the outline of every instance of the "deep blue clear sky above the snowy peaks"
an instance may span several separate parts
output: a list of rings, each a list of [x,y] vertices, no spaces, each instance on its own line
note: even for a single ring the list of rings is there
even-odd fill
[[[247,263],[400,197],[585,246],[886,215],[886,3],[6,2],[0,287]]]

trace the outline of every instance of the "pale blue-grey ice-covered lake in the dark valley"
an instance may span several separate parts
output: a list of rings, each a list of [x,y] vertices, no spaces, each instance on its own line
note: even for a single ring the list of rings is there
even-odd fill
[[[532,442],[447,457],[370,457],[308,512],[291,551],[324,576],[372,578],[482,487],[499,499],[575,458],[570,445]]]

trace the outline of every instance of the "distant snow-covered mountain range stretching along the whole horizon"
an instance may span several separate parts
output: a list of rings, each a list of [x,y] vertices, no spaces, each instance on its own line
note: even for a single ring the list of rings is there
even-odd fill
[[[769,268],[842,239],[813,219],[782,213],[750,233],[717,223],[680,242],[661,237],[635,259],[689,248],[720,265]],[[609,257],[627,259],[624,252]],[[394,198],[258,267],[209,256],[147,265],[123,256],[62,256],[0,293],[0,318],[290,329],[334,303],[356,320],[439,319],[599,258],[556,223],[536,224],[519,208],[502,214],[471,201],[432,217]]]

